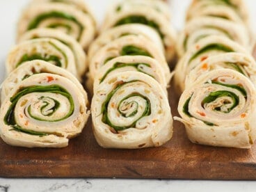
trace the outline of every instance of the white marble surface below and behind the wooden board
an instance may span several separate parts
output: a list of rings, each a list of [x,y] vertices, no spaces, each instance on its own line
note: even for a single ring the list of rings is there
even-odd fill
[[[0,6],[0,82],[4,79],[4,61],[10,47],[15,43],[15,24],[29,0],[1,0]],[[87,0],[102,21],[107,4],[106,0]],[[170,0],[173,24],[182,29],[184,10],[190,0]],[[256,17],[256,1],[246,0],[252,21]],[[100,5],[100,6],[97,6]],[[253,23],[253,29],[256,24]],[[255,30],[256,31],[256,30]],[[1,157],[0,157],[1,158]],[[0,168],[1,169],[1,168]],[[252,181],[193,181],[159,179],[4,179],[0,178],[1,191],[255,191],[256,182]]]

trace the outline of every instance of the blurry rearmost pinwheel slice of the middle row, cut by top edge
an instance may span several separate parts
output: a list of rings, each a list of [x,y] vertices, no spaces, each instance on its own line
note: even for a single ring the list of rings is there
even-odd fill
[[[113,6],[111,6],[106,13],[106,20],[111,17],[115,17],[115,15],[122,13],[122,11],[142,7],[146,7],[149,10],[157,10],[158,13],[164,15],[166,19],[170,20],[170,9],[168,7],[168,3],[158,0],[125,0],[113,3]]]

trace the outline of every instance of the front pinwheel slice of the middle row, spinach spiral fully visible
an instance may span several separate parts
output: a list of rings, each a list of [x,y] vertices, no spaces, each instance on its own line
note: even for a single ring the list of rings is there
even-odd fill
[[[159,146],[173,135],[165,93],[156,80],[141,72],[120,72],[104,79],[91,110],[93,132],[102,147]]]

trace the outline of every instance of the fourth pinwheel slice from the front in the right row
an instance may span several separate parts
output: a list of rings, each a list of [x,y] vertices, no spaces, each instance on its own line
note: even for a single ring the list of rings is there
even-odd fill
[[[195,17],[186,24],[177,40],[177,53],[183,56],[200,39],[209,35],[223,35],[250,50],[250,34],[243,24],[218,17]]]

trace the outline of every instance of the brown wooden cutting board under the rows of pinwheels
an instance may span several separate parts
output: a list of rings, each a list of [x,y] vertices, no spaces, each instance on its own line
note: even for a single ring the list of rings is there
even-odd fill
[[[173,116],[178,96],[170,88]],[[63,149],[11,147],[0,139],[0,177],[116,177],[163,179],[256,179],[256,146],[250,150],[195,145],[174,122],[161,147],[110,150],[97,145],[89,120]]]

